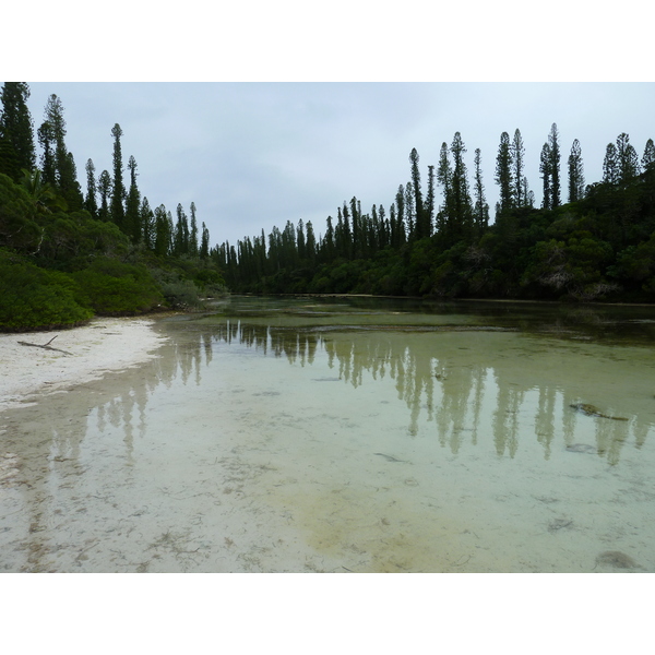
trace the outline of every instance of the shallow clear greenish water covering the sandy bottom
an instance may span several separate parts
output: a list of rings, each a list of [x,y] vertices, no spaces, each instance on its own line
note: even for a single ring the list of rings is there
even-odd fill
[[[653,308],[233,298],[158,329],[0,414],[0,570],[655,571]]]

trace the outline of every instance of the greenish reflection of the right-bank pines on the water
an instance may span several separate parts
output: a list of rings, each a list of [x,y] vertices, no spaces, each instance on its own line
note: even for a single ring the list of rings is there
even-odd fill
[[[207,334],[199,338],[206,343]],[[643,413],[619,422],[572,410],[576,397],[594,397],[598,386],[605,394],[620,382],[620,367],[607,348],[552,335],[462,326],[311,329],[233,320],[214,324],[210,338],[300,366],[311,365],[322,352],[330,368],[354,388],[389,376],[409,410],[408,433],[418,434],[422,416],[453,454],[464,442],[476,445],[480,432],[491,432],[496,453],[514,457],[529,426],[548,460],[556,434],[571,445],[579,421],[592,420],[598,455],[617,464],[623,444],[632,438],[641,446],[653,425]],[[611,402],[616,406],[608,410],[627,413],[619,397]]]

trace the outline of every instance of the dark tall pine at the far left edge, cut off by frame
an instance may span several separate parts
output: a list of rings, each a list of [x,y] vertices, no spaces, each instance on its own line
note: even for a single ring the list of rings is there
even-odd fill
[[[14,180],[21,177],[24,168],[32,172],[36,166],[34,150],[34,124],[27,109],[29,86],[25,82],[5,82],[0,91],[2,111],[0,112],[0,140],[11,148],[14,159]]]

